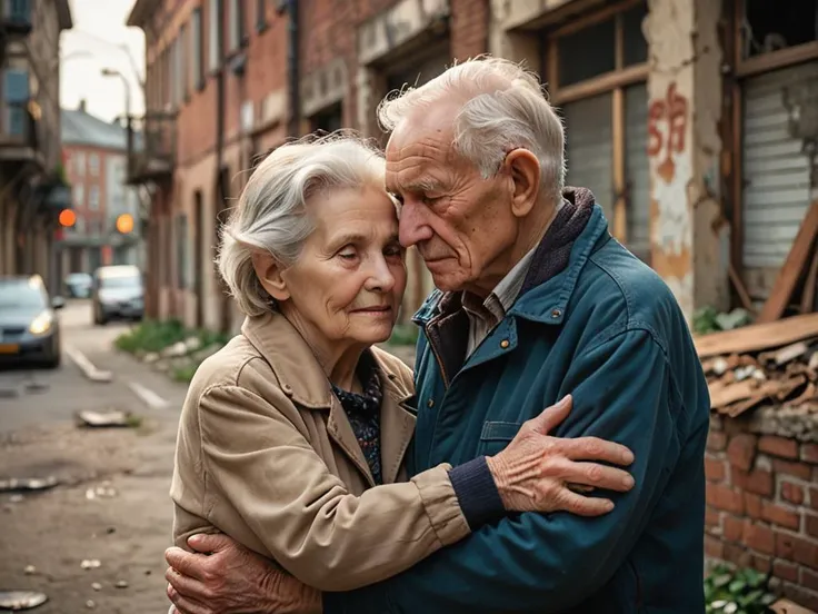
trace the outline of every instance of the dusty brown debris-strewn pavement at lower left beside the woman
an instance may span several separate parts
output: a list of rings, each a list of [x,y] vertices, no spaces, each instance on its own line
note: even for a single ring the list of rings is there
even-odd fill
[[[36,610],[43,614],[167,612],[168,491],[186,386],[126,355],[89,353],[88,358],[114,377],[94,384],[97,395],[136,409],[142,424],[89,429],[63,423],[0,440],[4,475],[60,479],[22,501],[0,495],[0,588],[46,593],[49,602]],[[151,409],[129,389],[130,382],[150,387],[168,406]],[[83,570],[83,559],[99,559],[100,566]],[[29,565],[36,568],[30,575]]]

